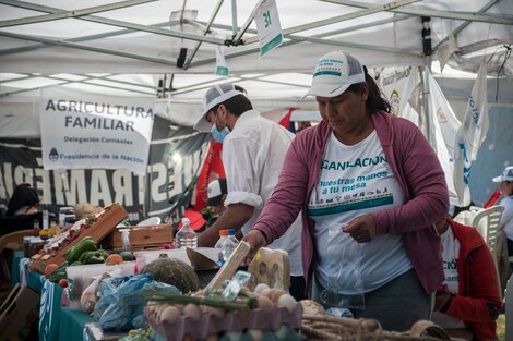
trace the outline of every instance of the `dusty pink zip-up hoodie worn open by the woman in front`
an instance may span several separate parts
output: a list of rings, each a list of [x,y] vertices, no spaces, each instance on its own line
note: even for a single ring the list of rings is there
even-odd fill
[[[404,192],[404,204],[372,214],[378,233],[401,233],[406,254],[426,293],[443,282],[441,242],[434,222],[449,209],[445,178],[433,149],[420,130],[405,119],[382,111],[372,115],[378,137],[395,179]],[[279,238],[302,210],[302,266],[307,288],[314,256],[311,231],[314,222],[306,216],[307,203],[319,176],[321,159],[332,130],[324,122],[299,133],[293,141],[273,196],[253,229],[267,243]]]

